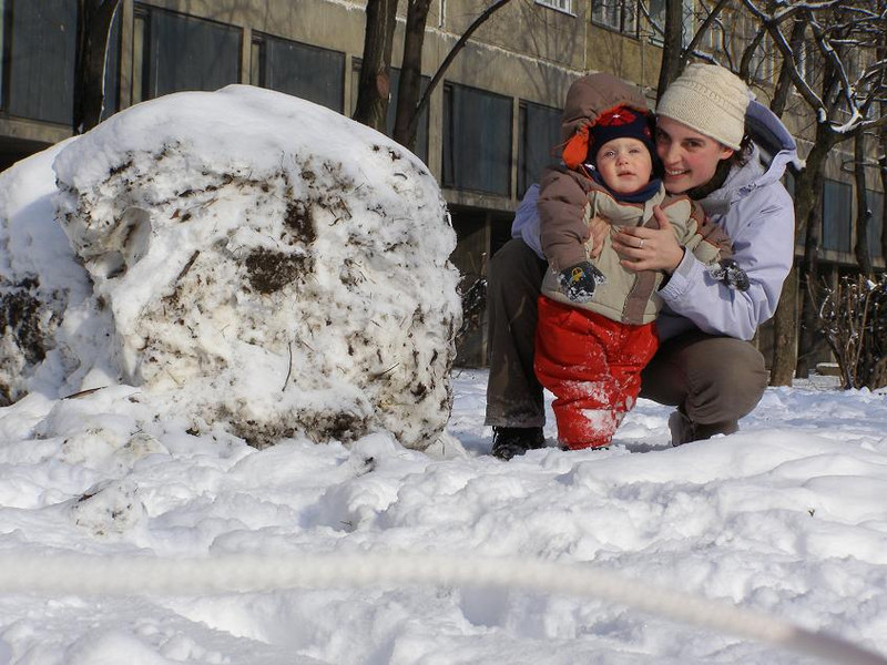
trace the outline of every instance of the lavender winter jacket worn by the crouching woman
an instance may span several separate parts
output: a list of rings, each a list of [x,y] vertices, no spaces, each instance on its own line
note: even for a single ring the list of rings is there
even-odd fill
[[[699,203],[730,236],[733,258],[746,272],[751,287],[740,291],[716,282],[704,264],[685,252],[659,290],[665,304],[656,321],[661,340],[694,326],[711,335],[752,339],[776,310],[795,242],[794,206],[779,178],[787,164],[797,163],[797,147],[779,119],[757,102],[748,105],[746,125],[755,139],[751,160],[731,171],[724,185]],[[544,258],[538,197],[539,187],[532,185],[518,207],[511,235]]]

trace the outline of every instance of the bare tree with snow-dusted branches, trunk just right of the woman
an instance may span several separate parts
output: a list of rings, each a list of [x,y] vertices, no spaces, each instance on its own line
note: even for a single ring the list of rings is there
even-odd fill
[[[743,0],[761,21],[783,57],[784,72],[815,119],[813,147],[805,167],[795,180],[795,218],[797,239],[804,241],[804,260],[798,279],[803,298],[799,344],[776,346],[771,383],[791,385],[793,376],[805,376],[806,351],[813,348],[818,327],[817,257],[820,246],[818,193],[822,191],[826,157],[837,144],[853,139],[856,132],[877,126],[873,104],[884,91],[885,62],[852,68],[859,53],[873,52],[885,30],[885,17],[870,2],[822,0],[791,4]],[[798,23],[804,27],[797,40]],[[788,34],[788,37],[786,37]],[[793,280],[787,280],[791,287]],[[777,318],[794,318],[793,298],[779,303]],[[798,350],[801,352],[798,352]]]

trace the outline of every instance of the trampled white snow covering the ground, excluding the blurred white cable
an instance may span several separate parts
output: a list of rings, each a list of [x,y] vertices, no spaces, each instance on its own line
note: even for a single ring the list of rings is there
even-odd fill
[[[768,389],[741,432],[681,448],[667,409],[642,400],[610,450],[506,463],[488,454],[486,374],[453,381],[451,438],[426,452],[385,434],[256,450],[153,418],[133,388],[32,395],[0,410],[2,554],[582,563],[887,654],[885,392]],[[485,586],[2,593],[0,640],[0,663],[40,665],[815,662],[597,598]]]

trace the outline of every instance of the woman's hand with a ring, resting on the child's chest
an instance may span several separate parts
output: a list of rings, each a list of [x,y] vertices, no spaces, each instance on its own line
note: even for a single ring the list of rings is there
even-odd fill
[[[674,229],[662,208],[653,206],[653,215],[659,228],[614,226],[613,249],[622,257],[620,264],[628,270],[664,270],[671,275],[683,260],[684,248],[677,244]]]

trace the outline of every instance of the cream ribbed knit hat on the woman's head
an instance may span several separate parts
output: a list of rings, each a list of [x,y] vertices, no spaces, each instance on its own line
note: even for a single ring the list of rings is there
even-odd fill
[[[656,115],[740,150],[751,95],[736,74],[716,64],[691,64],[662,94]]]

